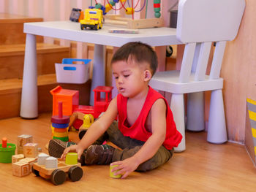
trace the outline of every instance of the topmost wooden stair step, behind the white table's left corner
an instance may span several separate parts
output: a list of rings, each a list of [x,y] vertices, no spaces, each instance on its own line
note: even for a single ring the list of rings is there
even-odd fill
[[[39,21],[42,21],[42,18],[0,13],[0,45],[24,44],[26,34],[23,33],[23,23]],[[42,41],[43,37],[37,36],[37,42]]]

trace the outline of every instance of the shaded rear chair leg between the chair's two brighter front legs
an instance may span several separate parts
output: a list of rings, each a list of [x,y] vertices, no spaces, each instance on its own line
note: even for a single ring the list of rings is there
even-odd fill
[[[203,92],[189,93],[187,99],[187,130],[203,131],[205,129]]]

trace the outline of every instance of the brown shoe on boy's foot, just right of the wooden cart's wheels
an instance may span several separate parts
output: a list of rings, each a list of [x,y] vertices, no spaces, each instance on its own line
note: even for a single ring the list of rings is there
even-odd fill
[[[110,145],[91,145],[86,150],[85,163],[86,165],[110,164],[114,150],[115,148]]]

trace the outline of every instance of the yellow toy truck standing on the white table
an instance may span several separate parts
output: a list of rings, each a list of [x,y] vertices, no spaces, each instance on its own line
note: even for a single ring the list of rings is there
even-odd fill
[[[99,28],[102,28],[102,23],[102,9],[85,9],[84,19],[80,20],[81,30],[86,29],[87,27],[98,30]]]

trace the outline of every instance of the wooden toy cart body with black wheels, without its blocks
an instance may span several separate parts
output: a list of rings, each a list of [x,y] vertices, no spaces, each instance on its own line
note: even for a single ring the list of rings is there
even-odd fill
[[[57,169],[47,169],[45,165],[39,165],[34,163],[32,166],[32,172],[38,177],[41,176],[50,181],[54,185],[61,185],[66,180],[66,173],[69,175],[69,179],[72,182],[80,180],[83,177],[83,169],[81,164],[68,165],[64,161],[58,161]]]

